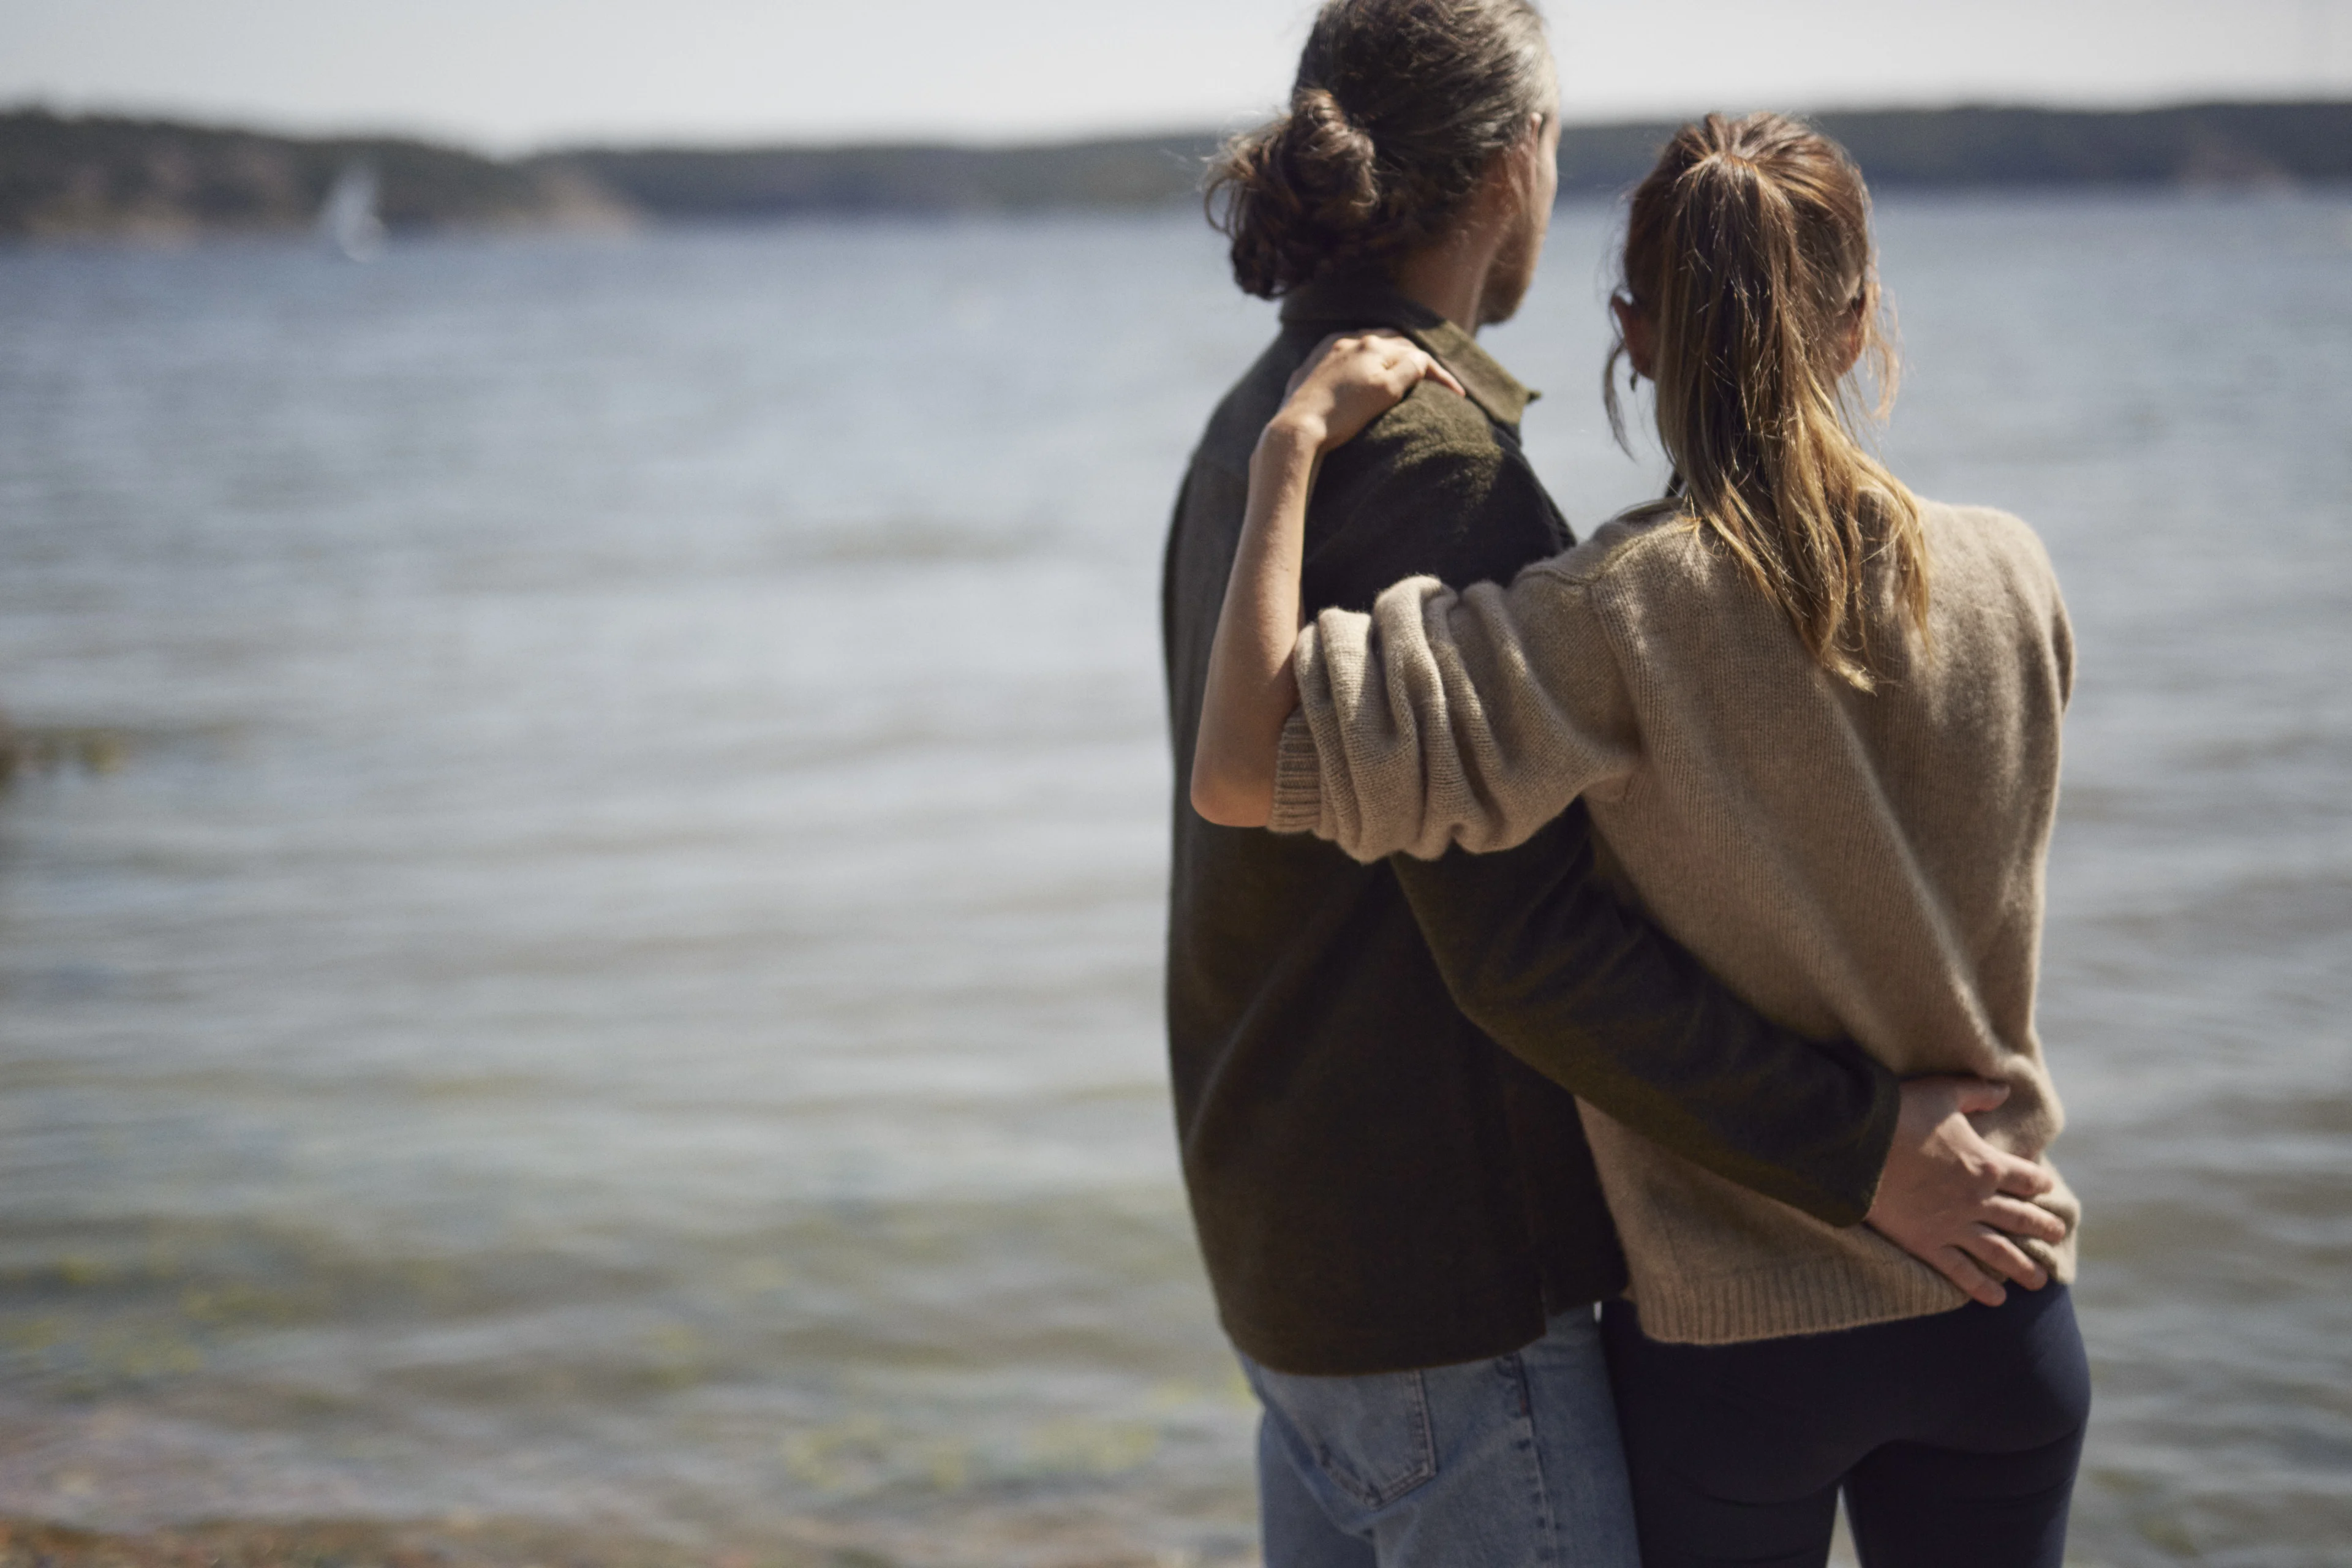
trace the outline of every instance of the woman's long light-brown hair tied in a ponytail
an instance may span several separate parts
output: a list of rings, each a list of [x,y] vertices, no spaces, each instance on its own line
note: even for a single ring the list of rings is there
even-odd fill
[[[1926,630],[1919,501],[1858,437],[1849,364],[1893,402],[1896,355],[1870,249],[1870,190],[1788,115],[1708,115],[1665,143],[1625,221],[1621,296],[1649,320],[1658,442],[1675,494],[1839,679],[1872,691],[1867,562],[1886,555]],[[1609,425],[1623,334],[1602,371]]]

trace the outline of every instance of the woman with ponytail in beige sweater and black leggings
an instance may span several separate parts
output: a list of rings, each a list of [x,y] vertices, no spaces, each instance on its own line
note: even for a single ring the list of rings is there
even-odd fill
[[[1317,461],[1451,393],[1388,336],[1301,376],[1251,463],[1195,806],[1371,860],[1508,849],[1583,799],[1625,900],[1757,1011],[2004,1086],[1973,1121],[2046,1161],[2072,637],[2023,522],[1922,501],[1858,437],[1856,367],[1893,371],[1860,174],[1780,115],[1684,127],[1635,190],[1613,310],[1611,418],[1623,357],[1668,494],[1508,585],[1411,578],[1305,630]],[[1482,985],[1456,990],[1477,1016]],[[2039,1199],[2063,1241],[1987,1229],[1947,1260],[2049,1284],[1971,1300],[1867,1225],[1585,1126],[1632,1276],[1604,1338],[1651,1568],[1823,1563],[1839,1493],[1870,1568],[2058,1568],[2089,1406],[2063,1182]]]

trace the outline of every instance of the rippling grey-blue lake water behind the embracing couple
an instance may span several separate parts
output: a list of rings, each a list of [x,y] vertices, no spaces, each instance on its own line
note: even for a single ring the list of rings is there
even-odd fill
[[[2082,644],[2082,1563],[2352,1540],[2352,200],[1891,200]],[[1602,209],[1494,350],[1578,524]],[[0,1514],[1254,1556],[1160,1060],[1197,219],[0,252]],[[870,1559],[866,1559],[870,1561]]]

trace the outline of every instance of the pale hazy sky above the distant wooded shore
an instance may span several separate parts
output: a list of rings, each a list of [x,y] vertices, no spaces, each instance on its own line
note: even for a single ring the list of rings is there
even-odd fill
[[[2352,0],[1550,0],[1566,115],[2352,94]],[[616,141],[1230,127],[1308,0],[0,0],[0,103]]]

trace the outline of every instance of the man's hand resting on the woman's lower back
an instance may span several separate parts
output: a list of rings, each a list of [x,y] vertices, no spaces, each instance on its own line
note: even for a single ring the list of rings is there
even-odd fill
[[[1905,1253],[1929,1262],[1987,1307],[1999,1307],[2011,1279],[2027,1291],[2049,1284],[2016,1237],[2065,1241],[2065,1222],[2025,1199],[2058,1180],[2039,1164],[1997,1150],[1969,1117],[2009,1098],[2006,1084],[1983,1079],[1912,1079],[1903,1084],[1903,1114],[1886,1152],[1879,1197],[1865,1222]]]

